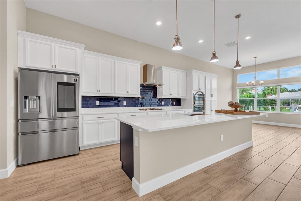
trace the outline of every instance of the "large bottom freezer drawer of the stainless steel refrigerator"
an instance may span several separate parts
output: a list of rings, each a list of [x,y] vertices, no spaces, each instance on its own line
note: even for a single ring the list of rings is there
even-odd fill
[[[19,165],[78,153],[78,129],[19,135]]]

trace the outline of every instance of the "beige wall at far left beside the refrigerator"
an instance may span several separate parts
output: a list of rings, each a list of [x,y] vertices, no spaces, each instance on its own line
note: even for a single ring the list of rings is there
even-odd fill
[[[6,8],[2,5],[5,5]],[[2,13],[2,11],[4,12]],[[2,19],[5,12],[6,23],[5,17]],[[1,26],[1,39],[4,41],[4,44],[1,44],[1,95],[6,97],[6,100],[1,101],[1,146],[6,144],[6,147],[4,146],[5,149],[1,147],[1,169],[5,169],[18,156],[17,30],[26,30],[26,7],[24,2],[22,0],[1,1],[1,25],[2,20],[6,24],[3,27],[6,31],[2,30]],[[2,33],[4,33],[3,37]],[[2,52],[5,58],[2,57]],[[11,100],[14,101],[12,108],[10,107]],[[2,158],[3,155],[6,155],[6,158]]]

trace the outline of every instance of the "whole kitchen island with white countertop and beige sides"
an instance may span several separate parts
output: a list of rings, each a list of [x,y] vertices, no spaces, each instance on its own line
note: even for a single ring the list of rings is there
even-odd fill
[[[122,169],[142,196],[253,146],[252,118],[262,115],[116,117]]]

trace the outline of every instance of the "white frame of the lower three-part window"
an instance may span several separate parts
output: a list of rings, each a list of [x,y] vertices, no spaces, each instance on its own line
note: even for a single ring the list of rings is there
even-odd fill
[[[238,94],[238,90],[239,89],[246,89],[246,88],[255,88],[255,94],[254,94],[254,111],[257,111],[257,88],[258,87],[266,87],[266,86],[277,86],[277,98],[276,99],[276,111],[260,111],[263,113],[278,113],[278,114],[293,114],[293,115],[301,115],[301,113],[294,113],[294,112],[281,112],[280,111],[280,86],[282,85],[293,85],[293,84],[301,84],[301,82],[290,82],[290,83],[278,83],[278,84],[265,84],[265,85],[261,85],[261,86],[240,86],[240,87],[236,87],[236,101],[238,102],[239,100],[243,100],[243,99],[239,99],[239,94]],[[266,99],[266,98],[259,98],[259,99]],[[246,99],[249,100],[249,99]],[[250,99],[250,100],[253,100]]]

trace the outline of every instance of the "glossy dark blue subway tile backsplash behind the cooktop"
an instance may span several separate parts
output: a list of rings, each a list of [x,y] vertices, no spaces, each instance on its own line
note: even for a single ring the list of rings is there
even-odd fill
[[[140,86],[140,96],[145,96],[145,99],[139,100],[139,98],[135,97],[82,96],[82,108],[181,106],[181,99],[158,99],[157,87],[155,86]],[[96,105],[96,101],[99,101],[99,105]],[[126,105],[123,105],[123,101],[126,101]],[[164,102],[163,105],[162,101]]]

